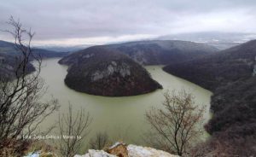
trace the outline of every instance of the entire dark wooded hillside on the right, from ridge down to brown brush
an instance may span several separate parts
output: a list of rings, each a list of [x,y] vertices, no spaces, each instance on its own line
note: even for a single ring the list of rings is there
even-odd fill
[[[256,40],[164,70],[214,91],[210,133],[256,137]]]

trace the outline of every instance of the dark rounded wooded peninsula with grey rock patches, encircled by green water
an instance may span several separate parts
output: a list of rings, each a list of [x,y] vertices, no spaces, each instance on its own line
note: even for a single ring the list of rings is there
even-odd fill
[[[137,62],[106,47],[90,47],[59,62],[69,66],[67,86],[91,95],[135,96],[161,88]]]

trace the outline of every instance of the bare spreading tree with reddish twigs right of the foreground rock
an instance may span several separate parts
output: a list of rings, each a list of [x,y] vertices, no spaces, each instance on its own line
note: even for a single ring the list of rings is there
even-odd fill
[[[164,109],[152,108],[146,113],[153,131],[148,133],[147,141],[154,147],[171,153],[183,155],[203,133],[203,113],[205,107],[195,104],[194,96],[185,90],[164,93]]]

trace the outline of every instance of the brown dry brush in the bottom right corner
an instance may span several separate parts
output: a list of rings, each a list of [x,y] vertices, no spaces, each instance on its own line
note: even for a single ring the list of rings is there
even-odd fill
[[[253,157],[256,137],[229,137],[228,132],[212,136],[207,142],[189,150],[189,157]]]

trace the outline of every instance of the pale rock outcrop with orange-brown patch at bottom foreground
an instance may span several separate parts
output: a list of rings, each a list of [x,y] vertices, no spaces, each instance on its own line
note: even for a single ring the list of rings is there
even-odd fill
[[[108,153],[107,153],[108,152]],[[137,145],[125,145],[124,143],[115,143],[107,152],[103,150],[90,149],[87,154],[75,155],[75,157],[178,157],[162,150],[142,147]]]

